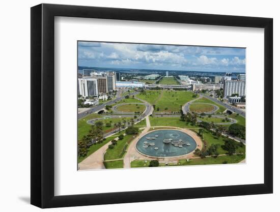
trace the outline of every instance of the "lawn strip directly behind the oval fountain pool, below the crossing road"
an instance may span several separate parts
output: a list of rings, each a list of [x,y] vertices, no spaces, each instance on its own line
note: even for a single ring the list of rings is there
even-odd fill
[[[199,128],[198,126],[187,125],[186,122],[180,120],[180,117],[152,117],[150,116],[151,127],[153,126],[170,126],[180,128]]]

